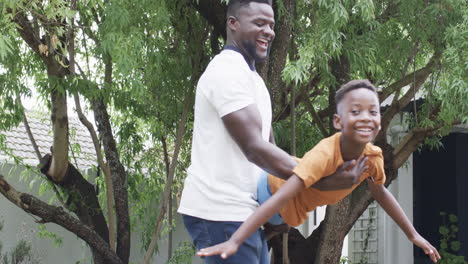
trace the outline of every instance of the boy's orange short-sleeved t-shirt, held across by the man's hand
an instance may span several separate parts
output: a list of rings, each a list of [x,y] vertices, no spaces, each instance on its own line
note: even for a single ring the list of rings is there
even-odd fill
[[[359,178],[359,182],[349,189],[336,191],[320,191],[310,186],[321,178],[334,173],[344,163],[341,156],[340,136],[338,132],[333,136],[320,141],[312,150],[307,152],[294,168],[294,173],[304,181],[305,189],[281,208],[280,215],[290,226],[298,226],[306,219],[308,212],[317,206],[334,204],[350,194],[359,184],[368,177],[373,177],[376,184],[385,182],[384,160],[382,150],[368,143],[363,155],[369,157],[368,169]],[[269,175],[268,183],[274,194],[285,181]]]

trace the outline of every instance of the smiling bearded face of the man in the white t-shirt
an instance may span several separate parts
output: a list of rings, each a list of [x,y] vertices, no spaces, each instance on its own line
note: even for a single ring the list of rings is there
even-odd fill
[[[241,7],[230,21],[235,45],[244,56],[256,62],[265,60],[275,38],[273,8],[269,4],[251,2]]]

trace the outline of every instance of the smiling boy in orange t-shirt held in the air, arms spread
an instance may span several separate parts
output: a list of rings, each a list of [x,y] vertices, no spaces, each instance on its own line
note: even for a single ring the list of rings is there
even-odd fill
[[[422,248],[434,263],[440,259],[437,250],[414,229],[398,202],[383,185],[385,172],[382,150],[371,143],[380,130],[380,106],[375,87],[367,80],[350,81],[336,92],[335,102],[337,113],[333,125],[340,132],[323,139],[306,153],[294,168],[294,175],[287,181],[271,175],[268,179],[263,176],[258,190],[259,202],[264,203],[227,242],[202,249],[197,255],[221,255],[227,258],[236,253],[244,239],[269,219],[273,224],[284,221],[291,226],[298,226],[307,218],[307,212],[317,206],[340,201],[367,179],[373,198],[400,226],[408,239]],[[357,160],[362,156],[366,156],[368,161],[359,182],[353,187],[338,191],[309,188],[314,182],[335,171],[343,162]],[[267,188],[273,195],[263,201],[264,193],[267,193],[266,198],[269,196]],[[279,215],[275,215],[278,211]]]

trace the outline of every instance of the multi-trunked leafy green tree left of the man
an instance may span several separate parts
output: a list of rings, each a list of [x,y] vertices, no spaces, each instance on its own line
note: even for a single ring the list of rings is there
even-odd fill
[[[64,202],[49,205],[18,192],[3,176],[0,192],[42,223],[83,239],[94,263],[128,263],[131,217],[150,234],[145,261],[153,256],[175,172],[186,167],[194,84],[208,61],[207,25],[188,3],[0,1],[0,128],[27,124],[21,98],[32,95],[32,83],[51,113],[54,139],[51,153],[36,151],[41,172]],[[97,185],[107,194],[101,200],[70,161],[70,96],[94,141],[103,175]]]

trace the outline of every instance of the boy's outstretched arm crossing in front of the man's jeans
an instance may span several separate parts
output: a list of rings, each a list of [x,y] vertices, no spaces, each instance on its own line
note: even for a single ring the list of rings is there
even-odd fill
[[[266,223],[289,199],[292,199],[299,191],[304,189],[304,182],[296,175],[291,176],[286,183],[265,203],[263,203],[247,220],[234,232],[231,238],[221,244],[203,248],[197,252],[198,256],[206,257],[221,255],[227,258],[237,252],[239,246]]]

